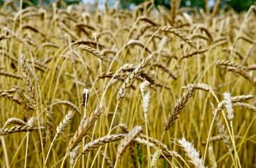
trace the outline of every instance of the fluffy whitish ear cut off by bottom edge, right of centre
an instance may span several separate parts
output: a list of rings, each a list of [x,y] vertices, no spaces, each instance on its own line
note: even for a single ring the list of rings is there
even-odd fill
[[[178,144],[183,148],[183,150],[187,153],[187,156],[190,159],[190,162],[197,168],[205,167],[203,165],[203,159],[200,159],[200,154],[194,148],[192,143],[189,143],[185,137],[182,137],[181,140],[178,140]]]

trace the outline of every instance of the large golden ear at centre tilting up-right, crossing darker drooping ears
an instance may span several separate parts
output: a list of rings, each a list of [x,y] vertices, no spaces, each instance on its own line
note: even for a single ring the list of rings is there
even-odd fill
[[[155,55],[155,53],[149,55],[144,60],[142,60],[140,62],[140,64],[135,68],[135,70],[133,70],[132,73],[129,74],[127,79],[125,79],[124,84],[119,89],[118,95],[116,97],[116,99],[118,101],[120,101],[122,98],[124,98],[125,95],[127,95],[129,87],[132,86],[132,84],[135,81],[135,79],[137,79],[138,76],[140,75],[140,73],[143,72],[143,70],[146,67],[146,65],[148,65],[149,60],[151,60],[151,58],[154,55]]]

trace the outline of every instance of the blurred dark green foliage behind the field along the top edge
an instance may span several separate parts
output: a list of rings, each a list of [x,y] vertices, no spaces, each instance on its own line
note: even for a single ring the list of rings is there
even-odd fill
[[[4,4],[10,0],[0,0],[0,5]],[[13,0],[12,0],[13,1]],[[54,0],[23,0],[23,7],[28,7],[31,5],[48,5],[52,3]],[[98,2],[103,3],[104,0],[56,0],[59,7],[68,6],[70,4],[79,4],[79,3],[86,3],[86,2]],[[105,0],[110,6],[115,4],[116,0]],[[145,0],[119,0],[119,6],[123,9],[131,9],[135,7]],[[180,7],[192,7],[196,9],[205,8],[206,3],[210,8],[214,6],[214,3],[217,0],[181,0]],[[17,0],[17,3],[19,0]],[[170,9],[171,0],[154,0],[154,4],[156,6],[162,5]],[[256,0],[221,0],[220,7],[222,9],[230,9],[233,8],[236,12],[241,12],[249,9],[252,4],[256,4]]]

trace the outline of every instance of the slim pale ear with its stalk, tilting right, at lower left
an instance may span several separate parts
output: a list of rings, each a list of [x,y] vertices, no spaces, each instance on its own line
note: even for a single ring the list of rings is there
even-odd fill
[[[47,153],[47,156],[46,156],[46,159],[45,159],[45,163],[47,162],[48,160],[48,156],[50,154],[50,149],[53,147],[53,143],[55,142],[56,138],[62,134],[62,132],[64,132],[64,129],[68,126],[69,122],[72,120],[74,116],[74,113],[73,111],[69,111],[66,116],[64,117],[64,119],[59,123],[58,127],[56,128],[56,133],[53,137],[53,140],[52,142],[50,143],[50,148],[48,150],[48,153]]]

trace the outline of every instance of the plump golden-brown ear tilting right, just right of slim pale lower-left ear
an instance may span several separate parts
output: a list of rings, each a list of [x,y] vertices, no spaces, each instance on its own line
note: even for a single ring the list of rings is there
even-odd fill
[[[84,123],[78,127],[75,135],[69,140],[68,151],[71,151],[76,145],[78,145],[78,143],[81,142],[83,137],[88,134],[89,130],[91,127],[93,127],[95,121],[97,121],[101,114],[102,107],[97,107],[96,110],[86,119],[86,121],[84,121]]]

